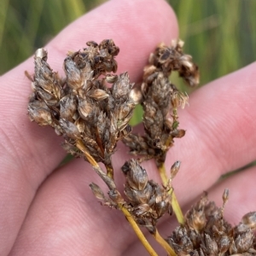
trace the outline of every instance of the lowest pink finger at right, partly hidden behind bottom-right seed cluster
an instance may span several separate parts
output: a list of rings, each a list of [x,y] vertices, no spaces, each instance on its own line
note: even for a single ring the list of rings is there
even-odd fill
[[[241,222],[242,216],[247,212],[255,212],[255,174],[256,167],[252,167],[244,172],[237,173],[232,177],[224,179],[217,183],[212,189],[209,189],[208,200],[214,201],[217,207],[223,206],[222,195],[224,189],[230,190],[229,200],[224,207],[224,218],[232,226]],[[201,195],[203,190],[201,191]],[[196,199],[198,201],[200,197]],[[192,207],[195,202],[190,201],[185,207],[185,212]],[[177,221],[174,216],[168,218],[164,224],[160,225],[160,234],[166,238],[172,235],[172,231],[177,227]],[[140,242],[136,242],[128,248],[122,255],[143,255],[143,248]]]

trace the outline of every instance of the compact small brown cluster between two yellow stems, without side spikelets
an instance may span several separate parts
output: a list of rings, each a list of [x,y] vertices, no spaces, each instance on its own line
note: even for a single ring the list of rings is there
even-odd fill
[[[125,162],[122,171],[126,177],[125,195],[131,214],[138,224],[154,233],[157,220],[165,213],[172,214],[171,188],[161,187],[153,180],[148,181],[146,170],[137,160]]]

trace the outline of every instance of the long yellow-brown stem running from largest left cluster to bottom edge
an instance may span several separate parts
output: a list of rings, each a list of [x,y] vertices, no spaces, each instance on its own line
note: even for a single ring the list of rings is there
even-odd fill
[[[108,176],[105,172],[102,171],[101,167],[98,165],[96,160],[90,155],[90,153],[87,151],[87,149],[84,147],[84,143],[81,140],[78,140],[76,143],[77,148],[79,148],[85,155],[86,159],[90,162],[90,165],[93,167],[95,172],[102,177],[102,180],[108,185],[108,188],[113,190],[116,189],[115,183],[113,182],[113,179]],[[149,255],[157,256],[157,253],[155,253],[153,247],[149,244],[146,237],[143,235],[142,230],[138,227],[136,221],[132,218],[130,212],[126,209],[125,205],[122,203],[118,203],[119,210],[121,210],[125,218],[128,220],[128,222],[131,224],[132,229],[136,233],[138,239],[143,243],[143,246],[148,251]]]

